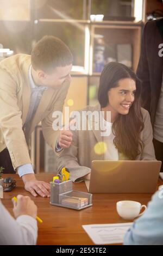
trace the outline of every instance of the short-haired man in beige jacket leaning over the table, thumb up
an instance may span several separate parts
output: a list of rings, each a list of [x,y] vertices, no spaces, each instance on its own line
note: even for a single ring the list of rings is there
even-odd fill
[[[67,148],[70,131],[54,131],[54,111],[62,111],[70,85],[72,54],[60,39],[45,36],[32,55],[16,54],[0,63],[0,166],[16,170],[27,191],[49,197],[49,184],[35,178],[29,157],[29,137],[42,123],[46,142],[54,151]]]

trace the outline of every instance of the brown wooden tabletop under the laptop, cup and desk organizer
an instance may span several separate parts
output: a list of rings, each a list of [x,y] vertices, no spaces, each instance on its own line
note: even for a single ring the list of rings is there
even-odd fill
[[[38,216],[43,220],[39,225],[37,245],[93,245],[85,233],[84,224],[121,223],[124,221],[116,212],[116,202],[119,200],[136,200],[146,204],[152,194],[93,194],[93,206],[83,210],[61,208],[49,204],[49,198],[33,197],[24,190],[23,182],[18,175],[5,174],[3,178],[11,176],[17,181],[17,187],[11,192],[4,192],[3,204],[12,214],[11,198],[18,194],[29,195],[38,207]],[[51,181],[54,174],[37,174],[38,180]],[[163,182],[159,180],[158,186]],[[73,184],[73,189],[86,191],[84,182]],[[130,222],[130,221],[129,221]]]

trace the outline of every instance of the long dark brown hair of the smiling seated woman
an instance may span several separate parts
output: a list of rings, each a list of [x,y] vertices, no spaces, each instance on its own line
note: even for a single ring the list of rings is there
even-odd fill
[[[130,160],[135,160],[140,154],[139,147],[143,148],[140,132],[144,128],[143,116],[141,112],[140,94],[141,81],[135,73],[121,63],[110,62],[102,71],[98,101],[101,107],[108,105],[108,92],[111,88],[118,86],[118,81],[124,78],[131,78],[136,83],[135,100],[126,115],[118,114],[112,125],[112,132],[115,135],[114,144],[118,152],[123,153]]]

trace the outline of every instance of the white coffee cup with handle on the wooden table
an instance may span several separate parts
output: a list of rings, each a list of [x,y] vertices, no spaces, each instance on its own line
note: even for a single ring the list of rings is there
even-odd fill
[[[142,208],[145,210],[140,214]],[[141,203],[136,201],[119,201],[117,202],[117,212],[124,220],[132,220],[136,217],[141,216],[147,209],[146,205],[141,205]]]

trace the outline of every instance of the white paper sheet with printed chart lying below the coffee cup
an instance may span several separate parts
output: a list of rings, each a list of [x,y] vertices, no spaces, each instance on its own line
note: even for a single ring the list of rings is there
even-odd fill
[[[105,245],[110,243],[123,243],[123,237],[126,231],[133,223],[118,224],[93,224],[83,225],[82,227],[90,236],[96,245]]]

